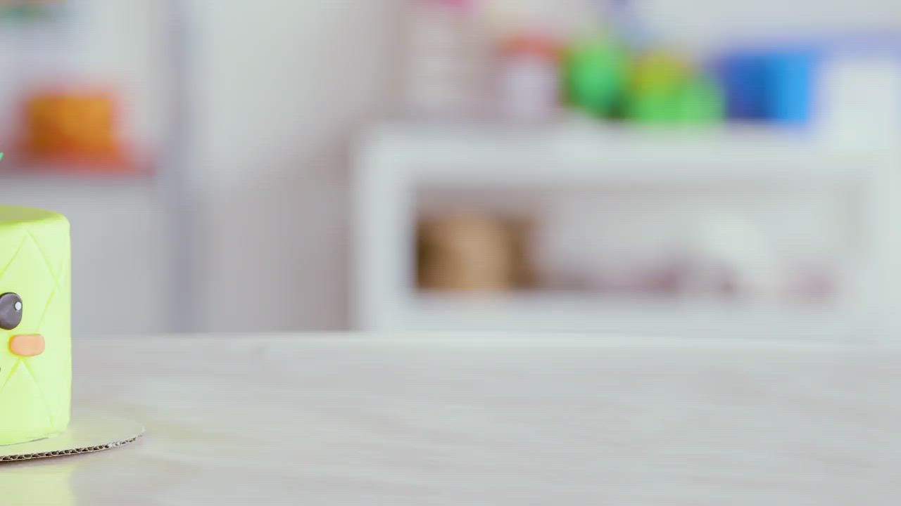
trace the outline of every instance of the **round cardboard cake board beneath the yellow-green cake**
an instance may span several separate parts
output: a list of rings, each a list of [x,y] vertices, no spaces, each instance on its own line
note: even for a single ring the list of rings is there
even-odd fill
[[[138,422],[105,416],[73,417],[68,429],[51,438],[0,446],[0,463],[93,453],[122,447],[144,435]]]

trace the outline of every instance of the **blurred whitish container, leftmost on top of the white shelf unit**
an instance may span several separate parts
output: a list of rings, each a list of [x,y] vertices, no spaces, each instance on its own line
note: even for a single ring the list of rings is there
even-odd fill
[[[405,44],[405,113],[428,119],[478,116],[489,50],[469,0],[413,0]]]

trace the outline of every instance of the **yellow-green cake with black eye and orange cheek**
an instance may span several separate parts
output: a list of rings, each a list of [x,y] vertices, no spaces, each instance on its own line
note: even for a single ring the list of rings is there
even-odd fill
[[[0,445],[68,427],[68,230],[55,212],[0,205]]]

